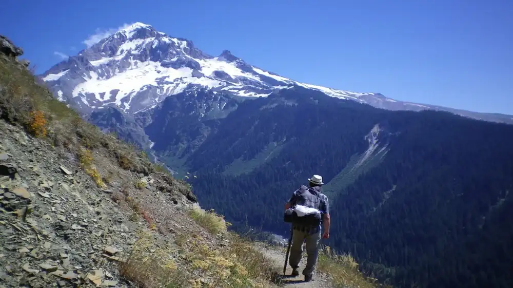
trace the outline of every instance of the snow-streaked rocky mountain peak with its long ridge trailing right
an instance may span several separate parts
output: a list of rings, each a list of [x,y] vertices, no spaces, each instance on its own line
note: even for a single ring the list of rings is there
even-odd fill
[[[170,95],[197,88],[253,98],[302,86],[383,109],[446,110],[477,119],[513,123],[510,116],[409,103],[380,93],[300,83],[250,65],[228,50],[216,57],[208,55],[189,40],[171,37],[143,23],[120,29],[54,65],[41,79],[57,99],[86,114],[112,105],[133,114],[154,108]]]

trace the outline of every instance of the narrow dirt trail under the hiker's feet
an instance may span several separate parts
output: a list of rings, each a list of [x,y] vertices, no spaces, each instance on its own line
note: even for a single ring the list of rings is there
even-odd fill
[[[304,276],[301,274],[306,264],[306,254],[303,256],[299,266],[299,276],[292,277],[292,268],[287,264],[286,276],[283,276],[283,264],[285,263],[286,250],[282,251],[280,248],[275,247],[264,247],[259,245],[259,249],[264,253],[275,264],[275,268],[279,271],[281,284],[283,287],[294,287],[294,288],[331,288],[328,277],[318,271],[313,275],[313,279],[310,282],[304,282]]]

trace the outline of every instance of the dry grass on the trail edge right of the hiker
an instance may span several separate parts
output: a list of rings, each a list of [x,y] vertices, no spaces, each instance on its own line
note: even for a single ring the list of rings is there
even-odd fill
[[[376,279],[365,277],[358,270],[358,263],[349,254],[337,254],[329,246],[320,249],[318,270],[330,275],[336,288],[375,288],[380,284]]]

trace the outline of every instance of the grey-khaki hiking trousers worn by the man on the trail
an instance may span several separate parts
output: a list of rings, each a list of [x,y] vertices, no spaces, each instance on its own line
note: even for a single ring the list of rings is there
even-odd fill
[[[289,264],[292,268],[297,269],[301,256],[303,255],[303,242],[306,240],[306,253],[308,255],[303,275],[310,275],[315,270],[317,264],[317,256],[319,254],[319,243],[321,242],[321,231],[309,235],[308,233],[294,229],[292,235],[292,244],[290,246]]]

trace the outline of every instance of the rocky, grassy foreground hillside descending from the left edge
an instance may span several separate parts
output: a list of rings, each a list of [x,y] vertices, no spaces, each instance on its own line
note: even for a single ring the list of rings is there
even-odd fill
[[[190,184],[53,99],[2,40],[0,286],[379,286],[329,249],[313,282],[280,277],[280,248],[228,232]]]

